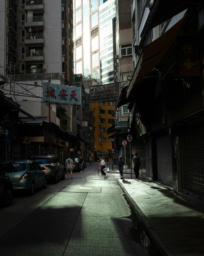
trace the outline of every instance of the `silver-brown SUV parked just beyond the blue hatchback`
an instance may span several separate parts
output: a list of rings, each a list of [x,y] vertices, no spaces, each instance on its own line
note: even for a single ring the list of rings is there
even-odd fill
[[[47,175],[47,179],[51,179],[53,183],[58,182],[58,178],[65,179],[65,166],[56,155],[47,156],[31,156],[32,160],[35,160],[40,166],[44,167],[44,172]]]

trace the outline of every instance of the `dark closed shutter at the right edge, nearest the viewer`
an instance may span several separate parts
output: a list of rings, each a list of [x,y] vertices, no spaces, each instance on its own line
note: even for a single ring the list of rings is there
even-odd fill
[[[189,126],[181,141],[182,190],[204,196],[204,122]]]

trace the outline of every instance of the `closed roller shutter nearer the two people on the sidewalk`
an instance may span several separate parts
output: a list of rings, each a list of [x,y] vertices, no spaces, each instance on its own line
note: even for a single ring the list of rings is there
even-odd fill
[[[159,182],[172,187],[172,146],[171,137],[165,135],[156,139],[157,145],[157,178]]]

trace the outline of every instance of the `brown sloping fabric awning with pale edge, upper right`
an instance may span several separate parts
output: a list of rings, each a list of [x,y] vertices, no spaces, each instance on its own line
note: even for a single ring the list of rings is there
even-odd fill
[[[159,63],[174,43],[175,37],[179,35],[181,29],[188,20],[187,17],[188,15],[185,15],[174,26],[172,26],[172,28],[167,30],[167,32],[142,49],[137,66],[127,89],[127,97],[133,94],[131,91],[137,83],[159,66]]]

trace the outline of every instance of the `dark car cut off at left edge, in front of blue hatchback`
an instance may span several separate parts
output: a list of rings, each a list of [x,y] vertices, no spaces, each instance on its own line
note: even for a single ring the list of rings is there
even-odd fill
[[[0,202],[4,206],[9,206],[13,201],[13,184],[11,178],[5,175],[0,168]]]

